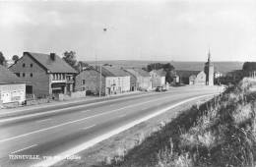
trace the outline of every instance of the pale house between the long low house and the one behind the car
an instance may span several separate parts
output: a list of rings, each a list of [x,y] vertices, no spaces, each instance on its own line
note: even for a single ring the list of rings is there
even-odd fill
[[[142,69],[126,69],[127,72],[133,74],[137,80],[137,87],[141,90],[150,90],[152,89],[152,81],[149,72],[146,72]]]

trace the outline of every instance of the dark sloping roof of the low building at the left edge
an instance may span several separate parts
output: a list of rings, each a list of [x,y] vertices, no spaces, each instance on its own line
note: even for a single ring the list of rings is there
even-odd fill
[[[25,83],[22,82],[14,73],[0,65],[0,84],[6,83]]]

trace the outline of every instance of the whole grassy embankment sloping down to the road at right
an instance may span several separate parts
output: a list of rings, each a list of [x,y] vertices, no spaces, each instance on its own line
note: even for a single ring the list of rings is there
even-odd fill
[[[200,106],[193,106],[159,132],[103,166],[254,166],[255,81],[245,79]]]

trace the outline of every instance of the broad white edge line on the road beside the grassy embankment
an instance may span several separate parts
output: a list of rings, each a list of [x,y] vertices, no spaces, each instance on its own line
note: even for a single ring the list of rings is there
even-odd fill
[[[112,130],[112,131],[110,131],[108,133],[105,133],[105,134],[103,134],[101,136],[98,136],[95,139],[91,139],[91,140],[86,141],[86,142],[84,142],[84,143],[82,143],[80,145],[77,145],[77,146],[75,146],[75,147],[73,147],[73,148],[71,148],[69,150],[61,152],[61,153],[59,153],[57,155],[57,157],[60,157],[60,158],[47,159],[47,160],[41,161],[41,162],[39,162],[37,164],[33,164],[32,167],[48,167],[48,166],[52,166],[52,165],[56,164],[57,162],[65,159],[67,157],[70,157],[70,156],[72,156],[74,154],[77,154],[77,153],[79,153],[79,152],[81,152],[81,151],[83,151],[83,150],[85,150],[85,149],[95,145],[96,143],[98,143],[98,142],[100,142],[100,141],[102,141],[104,139],[108,139],[108,138],[110,138],[110,137],[112,137],[114,135],[117,135],[117,134],[125,131],[125,130],[128,130],[128,129],[134,127],[135,125],[138,125],[138,124],[140,124],[142,122],[145,122],[145,121],[147,121],[147,120],[149,120],[151,118],[154,118],[154,117],[156,117],[156,116],[158,116],[158,115],[160,115],[162,113],[165,113],[165,112],[167,112],[168,110],[170,110],[172,108],[175,108],[175,107],[177,107],[177,106],[179,106],[181,104],[184,104],[186,102],[193,101],[193,100],[196,100],[196,99],[199,99],[199,98],[203,98],[203,97],[207,97],[207,96],[210,96],[210,95],[214,95],[214,94],[208,94],[208,95],[201,95],[201,96],[197,96],[197,97],[192,97],[192,98],[183,100],[181,102],[178,102],[176,104],[170,105],[170,106],[168,106],[168,107],[166,107],[164,109],[161,109],[158,112],[152,113],[152,114],[150,114],[150,115],[148,115],[148,116],[146,116],[144,118],[135,120],[135,121],[133,121],[131,123],[128,123],[128,124],[126,124],[124,126],[121,126],[121,127],[117,128],[115,130]]]

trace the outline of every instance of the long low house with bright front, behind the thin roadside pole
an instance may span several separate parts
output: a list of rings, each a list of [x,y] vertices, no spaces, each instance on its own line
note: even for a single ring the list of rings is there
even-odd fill
[[[130,91],[130,76],[116,67],[101,66],[88,68],[76,77],[76,90],[87,90],[98,94],[99,87],[104,95]]]

